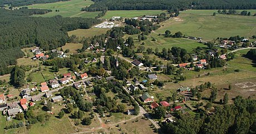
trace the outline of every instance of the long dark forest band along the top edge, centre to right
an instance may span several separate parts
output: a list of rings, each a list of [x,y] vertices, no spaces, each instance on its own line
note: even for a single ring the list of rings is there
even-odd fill
[[[256,9],[254,0],[101,0],[95,1],[90,7],[85,7],[85,11],[104,10],[146,10],[146,9]]]

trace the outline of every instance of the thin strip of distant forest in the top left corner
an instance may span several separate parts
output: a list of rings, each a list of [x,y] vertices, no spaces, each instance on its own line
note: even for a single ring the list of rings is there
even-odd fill
[[[26,6],[37,3],[52,3],[60,1],[69,1],[69,0],[0,0],[0,6],[4,7],[4,4],[8,4],[12,7]]]

